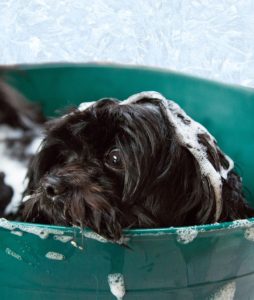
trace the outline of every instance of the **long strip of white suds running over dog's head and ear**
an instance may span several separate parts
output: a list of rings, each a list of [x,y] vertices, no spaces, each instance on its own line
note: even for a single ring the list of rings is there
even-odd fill
[[[214,218],[216,222],[219,219],[222,210],[222,178],[226,179],[228,173],[233,169],[233,161],[228,156],[225,156],[229,167],[224,169],[222,166],[220,166],[220,170],[216,171],[208,159],[206,148],[198,140],[198,135],[204,134],[207,136],[210,146],[219,150],[214,137],[207,131],[205,127],[191,119],[179,107],[178,104],[171,100],[167,100],[157,92],[142,92],[133,95],[122,101],[120,105],[135,103],[142,98],[161,100],[167,111],[169,121],[175,128],[175,134],[179,143],[188,148],[199,164],[201,174],[209,179],[211,185],[213,186],[216,199],[216,212]]]

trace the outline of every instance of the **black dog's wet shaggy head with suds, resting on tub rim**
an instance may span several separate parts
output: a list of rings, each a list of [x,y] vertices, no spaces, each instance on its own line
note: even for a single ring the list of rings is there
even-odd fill
[[[88,226],[114,241],[124,228],[254,215],[231,159],[155,92],[86,103],[49,122],[28,179],[24,221]]]

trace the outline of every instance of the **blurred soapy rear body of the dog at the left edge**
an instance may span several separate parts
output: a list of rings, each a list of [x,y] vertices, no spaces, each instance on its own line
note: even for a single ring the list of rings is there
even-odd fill
[[[7,73],[0,68],[0,216],[5,217],[20,205],[27,167],[45,121],[37,105],[6,84]]]

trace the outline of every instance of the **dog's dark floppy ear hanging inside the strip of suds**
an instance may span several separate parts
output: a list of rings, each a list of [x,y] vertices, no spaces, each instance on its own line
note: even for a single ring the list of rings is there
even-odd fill
[[[151,183],[142,206],[155,227],[211,223],[215,215],[215,195],[209,179],[185,148],[171,145],[161,174]]]

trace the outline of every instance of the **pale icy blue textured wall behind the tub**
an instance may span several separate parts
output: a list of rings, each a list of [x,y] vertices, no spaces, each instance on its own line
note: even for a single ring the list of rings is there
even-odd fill
[[[254,0],[0,0],[0,14],[0,64],[142,64],[254,87]]]

